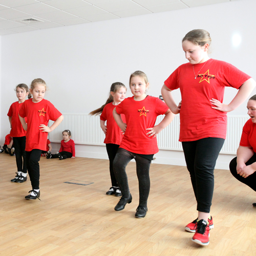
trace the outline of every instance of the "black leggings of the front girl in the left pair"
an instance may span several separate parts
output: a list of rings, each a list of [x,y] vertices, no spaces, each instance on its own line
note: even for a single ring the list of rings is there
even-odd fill
[[[29,178],[33,189],[39,189],[39,161],[41,150],[26,151],[26,163],[28,167]]]

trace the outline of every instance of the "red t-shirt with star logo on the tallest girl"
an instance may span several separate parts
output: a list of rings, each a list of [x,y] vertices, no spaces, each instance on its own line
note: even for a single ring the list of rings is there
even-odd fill
[[[204,66],[205,65],[205,66]],[[201,69],[201,70],[200,70]],[[210,99],[223,102],[225,87],[239,89],[250,78],[231,64],[209,59],[207,63],[185,63],[164,82],[170,90],[180,88],[180,141],[195,141],[208,137],[226,138],[226,112],[212,109]]]

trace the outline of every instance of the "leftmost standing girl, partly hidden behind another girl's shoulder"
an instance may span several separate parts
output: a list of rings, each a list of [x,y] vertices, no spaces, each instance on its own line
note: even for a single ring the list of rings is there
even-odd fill
[[[15,157],[17,165],[17,173],[14,179],[11,182],[23,183],[27,180],[27,166],[26,166],[26,131],[22,127],[22,123],[18,117],[18,111],[22,106],[23,102],[26,100],[26,97],[31,98],[29,93],[29,88],[27,84],[20,83],[15,88],[16,96],[18,101],[11,104],[8,116],[11,124],[10,135],[13,138],[13,144],[15,145]]]

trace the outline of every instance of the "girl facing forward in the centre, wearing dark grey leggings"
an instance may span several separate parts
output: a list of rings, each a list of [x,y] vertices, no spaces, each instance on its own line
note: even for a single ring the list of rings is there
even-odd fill
[[[150,164],[154,154],[159,151],[156,136],[174,118],[174,114],[162,100],[146,95],[148,86],[145,73],[134,72],[130,76],[130,89],[134,96],[123,100],[113,111],[113,116],[124,133],[113,162],[116,179],[122,192],[122,197],[115,210],[122,210],[126,203],[132,202],[125,167],[134,158],[140,195],[136,218],[145,217],[147,212],[147,199],[150,193]],[[121,114],[125,115],[126,123],[121,119]],[[158,125],[155,125],[159,115],[165,115],[165,117]]]

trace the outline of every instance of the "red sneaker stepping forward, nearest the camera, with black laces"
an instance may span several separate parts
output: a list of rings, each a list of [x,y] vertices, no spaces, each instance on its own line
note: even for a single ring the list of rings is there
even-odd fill
[[[209,244],[209,226],[205,220],[200,220],[197,224],[196,233],[194,234],[192,241],[200,245]]]

